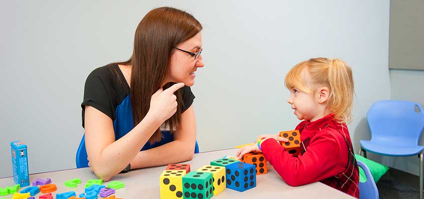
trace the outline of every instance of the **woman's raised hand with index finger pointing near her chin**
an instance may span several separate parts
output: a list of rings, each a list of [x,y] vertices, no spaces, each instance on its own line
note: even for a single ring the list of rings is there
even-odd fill
[[[162,87],[159,88],[150,99],[150,108],[147,114],[159,119],[161,123],[165,122],[177,112],[177,96],[174,95],[174,92],[183,87],[184,83],[177,83],[165,91]]]

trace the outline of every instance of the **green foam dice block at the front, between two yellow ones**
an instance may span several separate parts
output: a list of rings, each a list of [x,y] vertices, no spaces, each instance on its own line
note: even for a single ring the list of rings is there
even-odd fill
[[[184,199],[210,199],[213,196],[212,173],[192,171],[183,177]]]

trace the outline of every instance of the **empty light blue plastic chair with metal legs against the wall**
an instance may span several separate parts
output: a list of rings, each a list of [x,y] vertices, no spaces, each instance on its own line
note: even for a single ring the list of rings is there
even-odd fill
[[[371,140],[361,140],[361,152],[420,158],[420,199],[423,199],[424,146],[418,145],[424,129],[423,107],[412,101],[376,101],[367,113]]]

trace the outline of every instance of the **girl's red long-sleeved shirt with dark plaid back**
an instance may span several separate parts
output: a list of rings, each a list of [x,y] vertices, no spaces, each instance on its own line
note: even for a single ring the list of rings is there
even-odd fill
[[[290,186],[321,182],[359,198],[359,169],[346,124],[333,114],[313,122],[302,121],[301,154],[293,157],[274,139],[261,144],[262,152],[275,171]]]

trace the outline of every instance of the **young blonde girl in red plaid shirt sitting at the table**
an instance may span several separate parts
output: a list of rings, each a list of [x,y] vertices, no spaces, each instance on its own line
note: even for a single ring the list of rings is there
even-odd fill
[[[241,159],[262,152],[290,186],[320,181],[359,198],[359,170],[346,122],[351,120],[354,86],[351,68],[342,60],[316,58],[294,66],[286,76],[287,102],[300,122],[301,153],[289,154],[277,135],[261,135],[258,144],[237,152]]]

